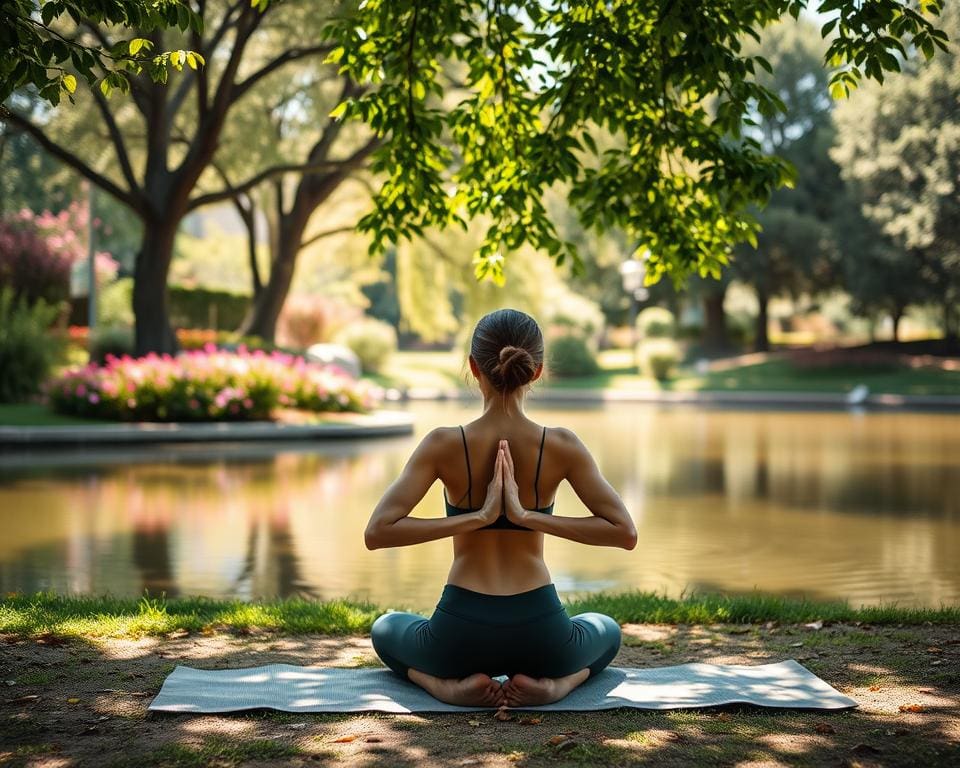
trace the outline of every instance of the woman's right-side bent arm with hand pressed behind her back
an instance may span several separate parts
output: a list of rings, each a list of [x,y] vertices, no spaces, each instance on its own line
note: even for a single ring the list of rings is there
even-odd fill
[[[549,533],[581,544],[601,547],[637,546],[637,528],[627,512],[620,496],[600,473],[596,461],[587,447],[573,432],[555,429],[563,437],[562,457],[568,467],[566,480],[574,492],[592,513],[591,517],[566,517],[544,515],[523,509],[514,489],[513,462],[509,458],[504,476],[506,514],[518,525],[534,531]]]

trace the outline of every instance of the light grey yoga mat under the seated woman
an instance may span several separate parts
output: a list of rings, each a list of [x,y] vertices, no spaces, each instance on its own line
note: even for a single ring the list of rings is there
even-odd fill
[[[503,678],[505,679],[505,678]],[[683,709],[733,703],[761,707],[845,709],[844,696],[793,659],[775,664],[680,664],[607,667],[554,704],[516,707],[582,712],[616,707]],[[389,669],[269,664],[246,669],[178,666],[150,709],[162,712],[474,712],[490,707],[445,704]]]

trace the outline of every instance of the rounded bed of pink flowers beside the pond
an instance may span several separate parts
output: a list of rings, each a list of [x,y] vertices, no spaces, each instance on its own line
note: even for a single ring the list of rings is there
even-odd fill
[[[109,356],[105,365],[63,374],[47,395],[60,413],[118,421],[263,420],[277,407],[363,413],[380,398],[376,387],[334,366],[213,344],[176,357]]]

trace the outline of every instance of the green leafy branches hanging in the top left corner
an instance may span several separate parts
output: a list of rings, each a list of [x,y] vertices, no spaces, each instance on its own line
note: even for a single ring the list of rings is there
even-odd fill
[[[195,51],[158,50],[150,55],[154,44],[144,37],[84,43],[63,33],[63,17],[76,24],[87,20],[141,33],[169,27],[199,34],[202,27],[201,17],[184,0],[6,0],[0,5],[0,102],[17,88],[32,85],[41,98],[56,105],[63,93],[72,98],[76,75],[106,94],[114,88],[126,92],[130,75],[144,70],[155,82],[166,82],[170,69],[203,65]]]

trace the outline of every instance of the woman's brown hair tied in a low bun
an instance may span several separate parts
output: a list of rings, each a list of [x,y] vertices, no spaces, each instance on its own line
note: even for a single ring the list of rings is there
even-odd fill
[[[529,384],[543,364],[543,333],[525,312],[498,309],[477,322],[470,356],[494,389],[513,392]]]

